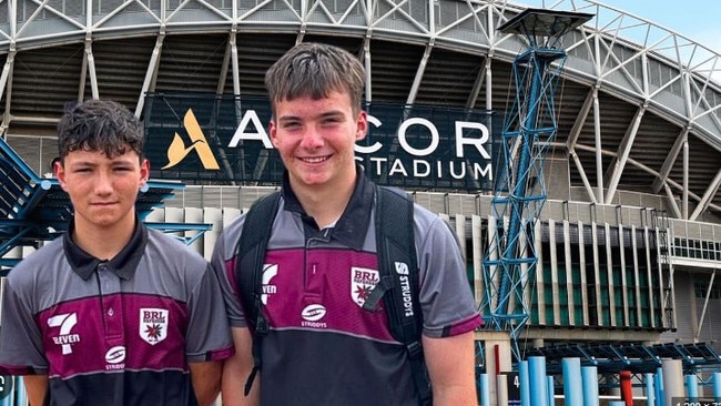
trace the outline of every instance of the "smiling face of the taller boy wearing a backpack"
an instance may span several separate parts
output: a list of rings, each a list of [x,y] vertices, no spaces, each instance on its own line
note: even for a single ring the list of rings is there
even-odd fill
[[[347,93],[299,97],[274,105],[270,133],[298,192],[347,190],[355,184],[356,141],[368,126],[364,111],[354,112]]]

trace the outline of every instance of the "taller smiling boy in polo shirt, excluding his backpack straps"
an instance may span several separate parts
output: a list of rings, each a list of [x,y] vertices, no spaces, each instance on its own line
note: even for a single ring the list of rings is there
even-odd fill
[[[385,312],[363,308],[378,274],[375,186],[354,155],[368,128],[364,81],[356,58],[319,43],[294,47],[265,75],[271,140],[286,168],[263,273],[270,333],[260,379],[245,396],[254,359],[235,286],[242,216],[223,231],[212,260],[236,348],[223,369],[224,405],[420,404],[407,351],[393,338]],[[433,403],[477,405],[474,329],[481,321],[458,242],[420,206],[414,219]]]

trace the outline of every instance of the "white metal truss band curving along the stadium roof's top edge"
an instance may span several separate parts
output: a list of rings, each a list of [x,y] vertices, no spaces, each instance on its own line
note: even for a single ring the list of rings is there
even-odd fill
[[[563,44],[569,74],[652,105],[680,124],[699,126],[721,148],[721,122],[714,114],[721,93],[713,80],[721,78],[719,54],[595,1],[562,0],[548,8],[595,16]],[[404,38],[428,47],[443,43],[512,60],[522,44],[496,29],[522,9],[492,0],[4,0],[0,1],[0,48],[12,53],[84,40],[91,81],[93,39],[149,32],[162,38],[173,32],[286,30],[298,32],[299,41],[313,27],[368,38]],[[11,63],[8,60],[3,82]]]

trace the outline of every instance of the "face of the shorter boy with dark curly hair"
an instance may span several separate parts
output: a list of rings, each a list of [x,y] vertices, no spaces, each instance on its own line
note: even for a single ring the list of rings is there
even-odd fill
[[[126,151],[113,158],[101,151],[73,151],[55,164],[55,175],[73,205],[77,231],[134,224],[135,197],[148,181],[150,164],[130,148]]]

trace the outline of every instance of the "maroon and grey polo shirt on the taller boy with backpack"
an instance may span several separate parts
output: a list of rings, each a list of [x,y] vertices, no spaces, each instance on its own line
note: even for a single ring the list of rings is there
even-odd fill
[[[385,311],[362,308],[378,281],[378,258],[374,186],[358,177],[345,213],[325,230],[317,230],[284,184],[263,271],[263,311],[271,325],[262,347],[264,406],[418,405],[407,352],[392,336]],[[423,334],[475,329],[481,319],[455,234],[418,205],[414,217]],[[235,287],[243,221],[223,231],[211,261],[235,327],[246,326]]]

